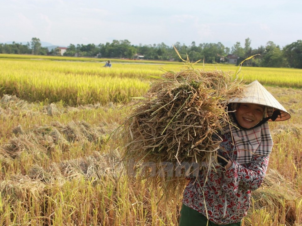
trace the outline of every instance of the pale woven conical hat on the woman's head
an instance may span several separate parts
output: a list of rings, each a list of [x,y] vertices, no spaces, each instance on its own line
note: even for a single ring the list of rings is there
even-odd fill
[[[277,117],[275,121],[285,121],[290,118],[290,114],[285,108],[268,92],[257,80],[248,84],[245,87],[245,93],[243,98],[233,98],[229,103],[250,103],[260,104],[274,108],[274,110],[280,110],[281,115]],[[271,121],[271,119],[269,120]]]

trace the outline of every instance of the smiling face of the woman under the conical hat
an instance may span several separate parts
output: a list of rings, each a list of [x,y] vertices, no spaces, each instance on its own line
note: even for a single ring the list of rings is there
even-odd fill
[[[257,104],[241,103],[236,110],[236,119],[240,126],[252,128],[263,118],[264,106]]]

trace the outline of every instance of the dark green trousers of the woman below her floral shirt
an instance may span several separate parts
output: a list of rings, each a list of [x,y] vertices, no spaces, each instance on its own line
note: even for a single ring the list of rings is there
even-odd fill
[[[225,224],[224,226],[240,226],[241,222]],[[203,214],[182,204],[179,226],[221,226],[209,221]]]

